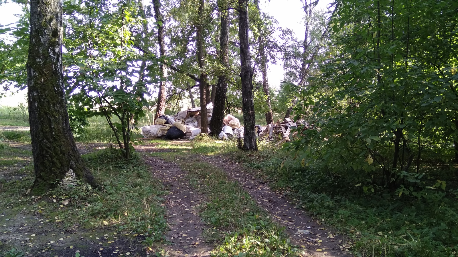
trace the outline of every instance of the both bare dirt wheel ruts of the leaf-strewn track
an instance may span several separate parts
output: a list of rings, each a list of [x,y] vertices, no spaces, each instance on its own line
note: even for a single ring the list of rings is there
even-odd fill
[[[137,150],[149,153],[164,151],[151,144],[137,147]],[[194,155],[194,158],[196,157]],[[180,238],[178,240],[172,238],[174,235],[179,236],[179,232],[187,233],[188,237],[190,237],[192,230],[195,230],[193,233],[197,235],[202,233],[203,224],[199,223],[200,218],[196,215],[196,210],[192,209],[193,206],[196,207],[202,196],[193,192],[193,188],[185,178],[186,172],[180,170],[177,164],[167,163],[159,158],[147,157],[146,155],[144,158],[147,159],[148,164],[153,166],[153,170],[157,170],[154,171],[154,175],[170,188],[167,208],[169,209],[168,220],[172,227],[172,231],[168,235],[171,241],[174,243],[181,241],[181,244],[183,244],[183,237],[181,237],[181,240]],[[180,161],[183,161],[187,159],[187,156],[177,156],[176,158],[180,158]],[[240,185],[250,193],[251,197],[262,208],[266,209],[273,221],[286,227],[286,232],[294,244],[307,249],[307,253],[310,256],[352,256],[345,251],[347,247],[351,249],[351,244],[337,236],[332,230],[329,230],[324,225],[324,221],[312,218],[303,209],[296,209],[294,204],[290,203],[282,192],[274,192],[266,182],[254,178],[253,174],[245,171],[240,164],[226,160],[222,156],[209,157],[202,155],[198,158],[223,169],[230,179],[240,182]],[[192,199],[194,199],[194,202],[190,201]],[[191,225],[185,224],[186,222],[191,223]],[[177,226],[180,223],[185,224],[185,227],[183,225]],[[191,231],[189,231],[190,229]],[[194,237],[193,239],[196,238],[196,236],[192,237]],[[191,241],[188,242],[188,246],[189,243]],[[173,248],[175,249],[176,247]],[[181,250],[183,249],[179,249],[179,251]]]

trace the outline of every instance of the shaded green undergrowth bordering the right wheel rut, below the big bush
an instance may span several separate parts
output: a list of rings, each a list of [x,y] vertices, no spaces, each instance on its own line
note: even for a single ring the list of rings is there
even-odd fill
[[[303,167],[283,150],[264,148],[231,158],[351,237],[357,256],[458,256],[456,188],[431,189],[420,198],[382,189],[365,193],[331,171]]]

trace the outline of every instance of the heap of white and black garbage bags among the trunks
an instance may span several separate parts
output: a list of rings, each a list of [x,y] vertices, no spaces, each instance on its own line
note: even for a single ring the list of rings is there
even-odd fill
[[[207,104],[207,124],[210,124],[213,114],[213,103]],[[196,135],[201,133],[201,107],[190,108],[182,112],[178,112],[174,116],[161,115],[156,119],[156,124],[142,127],[142,135],[144,138],[167,138],[167,139],[194,139]],[[223,120],[224,128],[222,132],[226,136],[221,139],[227,139],[234,134],[240,136],[240,131],[243,137],[243,129],[240,126],[240,120],[228,114]],[[210,132],[210,128],[208,128]]]

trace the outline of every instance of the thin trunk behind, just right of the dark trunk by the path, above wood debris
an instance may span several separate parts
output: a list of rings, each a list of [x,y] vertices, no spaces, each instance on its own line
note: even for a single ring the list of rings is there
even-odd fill
[[[267,81],[267,57],[264,50],[264,43],[266,38],[263,32],[262,20],[261,20],[261,8],[259,8],[259,0],[255,0],[256,8],[259,11],[259,23],[258,23],[258,44],[259,44],[259,57],[261,58],[261,73],[262,73],[262,90],[266,96],[267,103],[267,112],[266,112],[266,123],[273,124],[273,113],[272,105],[270,103],[270,92],[269,92],[269,83]]]

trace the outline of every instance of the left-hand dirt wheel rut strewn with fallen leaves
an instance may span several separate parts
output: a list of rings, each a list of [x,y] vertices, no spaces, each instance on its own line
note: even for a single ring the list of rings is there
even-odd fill
[[[136,150],[151,152],[151,146],[138,146]],[[187,172],[178,165],[147,155],[143,155],[143,158],[152,167],[154,177],[169,189],[165,206],[170,230],[166,236],[173,244],[164,246],[166,254],[172,257],[210,256],[213,245],[204,241],[202,231],[206,225],[197,215],[197,206],[203,195],[194,191],[186,178]]]

